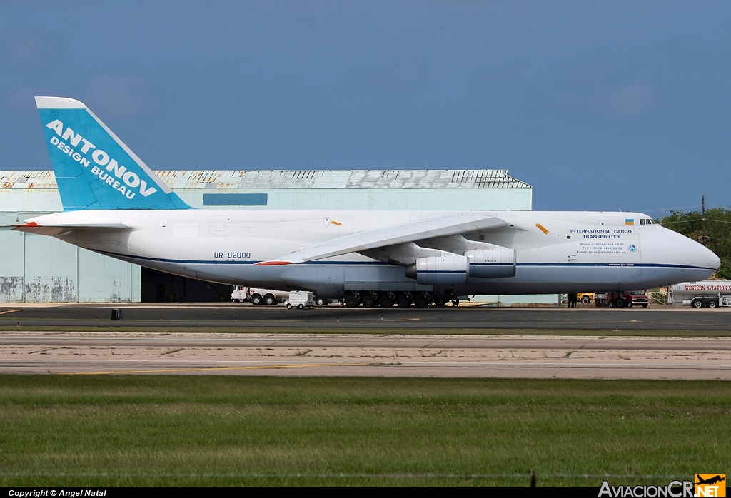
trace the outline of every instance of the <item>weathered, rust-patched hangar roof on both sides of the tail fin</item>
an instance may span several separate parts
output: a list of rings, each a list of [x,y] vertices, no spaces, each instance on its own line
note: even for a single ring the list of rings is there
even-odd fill
[[[168,170],[173,188],[531,188],[507,169]],[[0,188],[56,190],[53,171],[0,171]]]

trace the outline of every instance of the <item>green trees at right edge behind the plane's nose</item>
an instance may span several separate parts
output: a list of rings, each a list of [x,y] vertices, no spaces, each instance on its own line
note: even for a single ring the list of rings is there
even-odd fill
[[[731,209],[713,207],[705,210],[705,240],[702,240],[700,211],[670,211],[670,215],[662,218],[660,224],[711,249],[721,259],[716,277],[731,280]]]

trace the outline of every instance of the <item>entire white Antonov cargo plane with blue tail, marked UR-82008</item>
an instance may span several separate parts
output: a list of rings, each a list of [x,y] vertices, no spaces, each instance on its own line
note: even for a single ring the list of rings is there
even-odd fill
[[[639,212],[197,210],[80,101],[36,103],[64,210],[15,229],[162,272],[423,307],[654,288],[720,264]]]

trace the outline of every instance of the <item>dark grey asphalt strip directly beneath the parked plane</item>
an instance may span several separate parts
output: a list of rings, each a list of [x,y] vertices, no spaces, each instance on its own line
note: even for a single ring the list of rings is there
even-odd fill
[[[122,310],[111,321],[111,308]],[[299,332],[314,329],[349,330],[588,330],[609,331],[727,331],[729,308],[694,310],[689,307],[615,310],[608,308],[427,307],[348,309],[330,305],[311,310],[243,304],[7,306],[0,308],[0,330],[79,329],[271,329]]]

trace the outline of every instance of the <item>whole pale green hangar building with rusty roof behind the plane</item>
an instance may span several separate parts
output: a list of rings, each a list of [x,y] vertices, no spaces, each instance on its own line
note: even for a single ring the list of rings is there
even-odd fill
[[[532,187],[507,169],[189,170],[156,172],[200,209],[531,210]],[[201,283],[12,226],[61,211],[53,171],[0,171],[0,302],[230,299]]]

